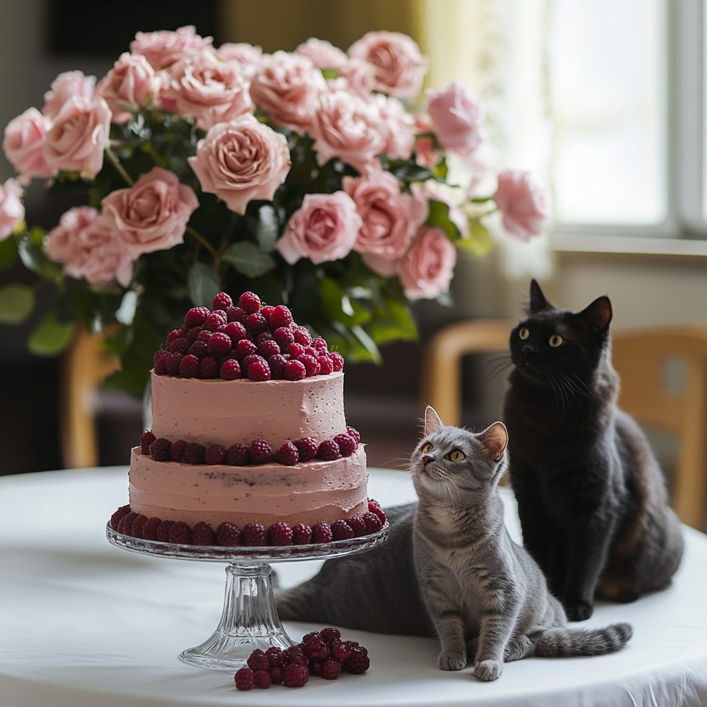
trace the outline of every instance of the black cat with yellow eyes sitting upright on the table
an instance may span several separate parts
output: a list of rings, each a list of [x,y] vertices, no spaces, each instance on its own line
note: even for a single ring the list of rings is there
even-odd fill
[[[631,602],[667,587],[682,557],[658,462],[617,408],[611,320],[609,298],[574,314],[533,280],[510,334],[510,483],[525,547],[572,621],[591,616],[595,596]]]

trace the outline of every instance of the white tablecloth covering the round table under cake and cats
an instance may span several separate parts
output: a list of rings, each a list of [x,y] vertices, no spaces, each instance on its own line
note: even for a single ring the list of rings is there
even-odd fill
[[[581,624],[631,621],[634,636],[620,653],[520,660],[488,684],[470,667],[438,670],[433,639],[344,630],[368,648],[367,674],[238,692],[230,672],[177,658],[216,627],[223,566],[139,556],[107,543],[105,522],[127,501],[126,472],[0,477],[0,706],[707,705],[707,537],[689,528],[672,588],[633,604],[600,605]],[[383,506],[414,499],[399,472],[374,470],[370,495]],[[508,493],[506,501],[518,537]],[[276,566],[283,585],[317,567]],[[320,628],[286,624],[296,639]]]

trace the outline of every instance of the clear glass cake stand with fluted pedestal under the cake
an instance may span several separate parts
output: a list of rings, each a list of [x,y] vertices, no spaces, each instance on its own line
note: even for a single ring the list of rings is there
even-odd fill
[[[187,648],[180,658],[192,665],[214,670],[238,670],[256,648],[288,648],[294,641],[285,633],[275,608],[271,563],[329,559],[366,552],[387,540],[387,524],[377,533],[334,540],[316,545],[286,547],[218,547],[178,545],[144,540],[113,530],[110,522],[105,534],[108,541],[124,550],[168,557],[177,560],[227,562],[226,597],[223,614],[211,638],[194,648]]]

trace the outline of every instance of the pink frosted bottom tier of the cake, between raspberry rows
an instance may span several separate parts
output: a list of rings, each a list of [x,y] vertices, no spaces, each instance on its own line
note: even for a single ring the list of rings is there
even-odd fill
[[[231,467],[226,464],[156,462],[140,448],[130,458],[130,509],[148,518],[288,525],[346,520],[368,510],[368,472],[363,445],[351,457]]]

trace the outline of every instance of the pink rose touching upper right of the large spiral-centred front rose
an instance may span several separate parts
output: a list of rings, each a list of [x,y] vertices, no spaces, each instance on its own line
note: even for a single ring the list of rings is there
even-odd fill
[[[267,110],[272,122],[301,134],[310,127],[317,95],[324,86],[322,72],[310,59],[279,51],[262,58],[250,95],[257,107]]]

